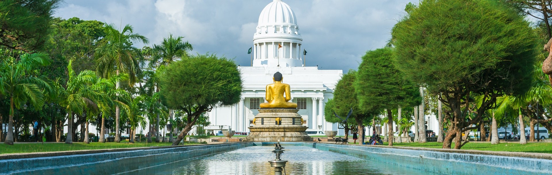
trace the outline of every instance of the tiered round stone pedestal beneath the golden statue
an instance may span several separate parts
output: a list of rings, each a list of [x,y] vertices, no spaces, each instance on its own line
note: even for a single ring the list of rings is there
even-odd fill
[[[299,109],[259,109],[245,141],[312,141],[305,132],[309,127],[301,125],[301,115],[297,112]]]

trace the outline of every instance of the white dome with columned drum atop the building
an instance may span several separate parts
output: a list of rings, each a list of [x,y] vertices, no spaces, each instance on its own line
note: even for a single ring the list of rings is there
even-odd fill
[[[302,66],[301,34],[288,4],[273,0],[259,15],[253,35],[253,66]]]

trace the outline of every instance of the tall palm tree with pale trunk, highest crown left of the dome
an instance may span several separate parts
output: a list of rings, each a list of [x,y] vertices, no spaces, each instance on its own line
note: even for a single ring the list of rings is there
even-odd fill
[[[122,30],[115,29],[114,24],[105,26],[105,42],[95,50],[97,70],[102,77],[110,77],[115,74],[128,73],[130,84],[136,82],[136,74],[140,73],[140,66],[136,57],[141,56],[140,50],[132,46],[133,42],[149,43],[148,39],[138,33],[134,33],[131,25],[125,25]],[[120,82],[116,83],[119,89]],[[119,107],[115,107],[115,141],[120,142],[119,133]]]

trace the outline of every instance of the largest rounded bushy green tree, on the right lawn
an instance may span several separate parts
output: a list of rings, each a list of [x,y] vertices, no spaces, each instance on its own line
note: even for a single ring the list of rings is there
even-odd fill
[[[454,12],[454,13],[451,13]],[[443,20],[446,19],[446,20]],[[453,113],[444,148],[475,129],[496,97],[530,87],[536,35],[511,6],[491,0],[424,0],[391,32],[395,66],[411,81],[427,84]],[[481,96],[481,105],[467,105]],[[468,118],[468,111],[476,113]],[[456,149],[460,149],[457,137]]]

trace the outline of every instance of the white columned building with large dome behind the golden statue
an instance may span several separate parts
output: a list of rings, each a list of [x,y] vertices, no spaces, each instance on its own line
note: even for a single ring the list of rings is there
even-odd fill
[[[309,126],[307,131],[321,134],[338,130],[337,123],[324,119],[324,105],[333,98],[333,89],[343,71],[305,66],[302,41],[298,19],[288,4],[274,0],[264,7],[253,34],[252,58],[243,58],[252,59],[252,65],[239,67],[244,85],[241,100],[236,105],[213,108],[208,113],[211,125],[205,129],[219,130],[222,125],[223,129],[249,132],[259,104],[266,102],[266,85],[273,83],[275,72],[280,72],[283,82],[291,86],[291,101],[298,104],[298,113]],[[316,58],[308,59],[309,65],[316,65]],[[338,135],[343,135],[342,129]]]

